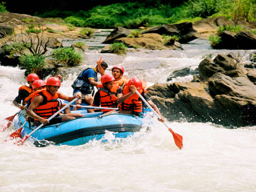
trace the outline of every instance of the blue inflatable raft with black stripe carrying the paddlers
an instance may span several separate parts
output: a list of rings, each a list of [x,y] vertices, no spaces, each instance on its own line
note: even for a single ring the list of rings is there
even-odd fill
[[[27,141],[33,141],[37,147],[48,145],[83,145],[90,140],[100,140],[106,131],[114,132],[116,138],[126,138],[138,132],[142,126],[143,116],[124,114],[111,114],[101,116],[102,112],[87,113],[87,110],[79,110],[84,117],[76,118],[60,124],[43,126],[34,132]],[[14,121],[15,129],[19,129],[25,123],[25,112],[19,114]],[[33,128],[33,127],[32,127]],[[33,129],[28,122],[22,129],[21,138],[24,138]]]

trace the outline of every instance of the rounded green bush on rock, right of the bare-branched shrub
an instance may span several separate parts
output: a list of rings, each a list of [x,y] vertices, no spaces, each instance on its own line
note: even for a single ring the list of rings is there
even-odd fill
[[[59,48],[54,49],[52,57],[60,63],[67,64],[69,66],[77,66],[83,61],[82,53],[77,53],[72,48]]]

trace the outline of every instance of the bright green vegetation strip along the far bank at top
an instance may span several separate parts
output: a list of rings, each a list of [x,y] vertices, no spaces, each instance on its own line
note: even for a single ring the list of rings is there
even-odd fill
[[[170,2],[169,2],[170,3]],[[40,17],[61,17],[76,27],[91,28],[138,28],[184,21],[201,20],[207,17],[224,16],[230,20],[256,20],[256,0],[189,0],[183,4],[156,1],[116,3],[78,12],[37,12]]]

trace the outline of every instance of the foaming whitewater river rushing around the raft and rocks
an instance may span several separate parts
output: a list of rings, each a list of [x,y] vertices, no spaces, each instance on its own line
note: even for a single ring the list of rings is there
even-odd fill
[[[100,44],[109,34],[95,34],[83,40],[90,49],[84,53],[83,66],[95,67],[102,57],[110,69],[123,65],[125,76],[139,77],[148,85],[166,83],[172,71],[196,68],[204,57],[237,50],[212,50],[208,41],[196,39],[183,44],[184,50],[143,50],[126,55],[101,54]],[[80,41],[81,42],[81,41]],[[63,43],[70,46],[70,41]],[[250,52],[239,53],[248,62]],[[82,66],[82,67],[83,67]],[[62,82],[60,92],[72,94],[71,84],[81,71]],[[192,75],[174,81],[188,82]],[[19,109],[12,105],[21,85],[26,84],[24,70],[0,66],[0,124]],[[160,109],[161,111],[161,109]],[[150,115],[150,114],[149,114]],[[81,146],[36,148],[25,142],[4,142],[13,132],[0,132],[0,191],[255,191],[256,126],[223,127],[212,123],[166,122],[183,136],[179,150],[172,134],[156,117],[145,117],[145,127],[123,140],[92,141]],[[111,132],[105,134],[111,139]]]

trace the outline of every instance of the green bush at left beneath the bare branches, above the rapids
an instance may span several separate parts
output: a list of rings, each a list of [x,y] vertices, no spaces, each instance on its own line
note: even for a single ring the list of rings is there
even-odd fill
[[[22,55],[19,60],[20,67],[26,68],[28,73],[38,73],[45,66],[44,55]]]

